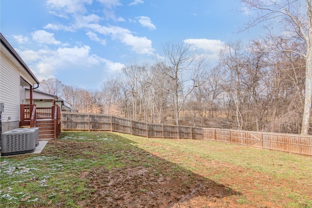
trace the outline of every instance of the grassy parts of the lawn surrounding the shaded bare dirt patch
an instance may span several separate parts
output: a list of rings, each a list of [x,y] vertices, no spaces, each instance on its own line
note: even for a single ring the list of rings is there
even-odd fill
[[[172,178],[189,170],[218,183],[253,178],[254,185],[246,194],[261,196],[261,200],[285,208],[312,207],[312,157],[206,140],[144,138],[110,132],[62,132],[61,140],[62,147],[48,143],[41,155],[0,158],[1,208],[79,207],[78,202],[90,199],[95,191],[92,178],[81,175],[97,167],[107,171],[153,167],[155,175]],[[90,144],[88,149],[73,154],[79,147],[72,150],[70,145],[86,142]],[[174,165],[171,171],[164,172],[162,167],[168,163]],[[233,167],[242,172],[233,172]],[[280,187],[279,181],[288,186]],[[189,183],[185,181],[184,185]],[[246,187],[237,183],[231,188],[242,193],[237,196],[237,203],[256,205],[244,195]],[[142,193],[147,191],[150,190],[140,189]]]

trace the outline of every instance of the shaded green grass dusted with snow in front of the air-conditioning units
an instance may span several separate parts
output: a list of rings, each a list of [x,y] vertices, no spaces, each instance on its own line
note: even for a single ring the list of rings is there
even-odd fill
[[[0,200],[3,207],[18,207],[26,197],[30,199],[22,202],[25,206],[34,202],[48,205],[50,200],[54,203],[65,200],[74,205],[72,196],[88,197],[88,193],[92,191],[85,188],[88,186],[87,180],[73,177],[78,169],[85,169],[89,163],[86,160],[69,161],[65,158],[32,156],[22,159],[1,158],[1,163]]]

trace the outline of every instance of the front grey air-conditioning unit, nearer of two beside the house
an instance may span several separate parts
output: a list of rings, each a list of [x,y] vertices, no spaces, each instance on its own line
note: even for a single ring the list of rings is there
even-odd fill
[[[1,156],[34,152],[36,136],[35,129],[3,132],[1,134]]]

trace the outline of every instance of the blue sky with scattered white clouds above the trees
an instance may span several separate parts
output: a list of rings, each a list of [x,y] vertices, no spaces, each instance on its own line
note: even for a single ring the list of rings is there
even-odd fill
[[[184,41],[216,63],[248,14],[238,0],[1,0],[0,32],[41,81],[100,89],[130,63],[154,63]]]

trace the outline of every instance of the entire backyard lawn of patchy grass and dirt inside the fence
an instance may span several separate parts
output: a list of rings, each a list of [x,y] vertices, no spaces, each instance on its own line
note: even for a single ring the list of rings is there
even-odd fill
[[[312,207],[312,157],[215,141],[62,132],[0,165],[1,208]]]

